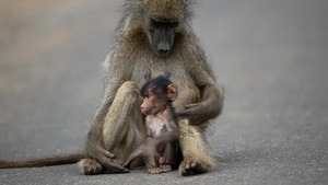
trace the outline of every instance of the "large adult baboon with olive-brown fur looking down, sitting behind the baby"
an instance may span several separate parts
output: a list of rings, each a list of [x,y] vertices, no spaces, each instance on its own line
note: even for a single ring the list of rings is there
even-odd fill
[[[102,105],[87,135],[79,165],[85,174],[104,170],[127,172],[112,162],[125,160],[142,143],[144,118],[139,85],[160,74],[179,86],[174,102],[179,116],[179,143],[184,155],[179,173],[202,173],[215,165],[204,140],[208,120],[223,105],[204,51],[190,26],[191,0],[127,0],[117,28],[116,45],[105,61]],[[140,165],[134,161],[131,165]]]

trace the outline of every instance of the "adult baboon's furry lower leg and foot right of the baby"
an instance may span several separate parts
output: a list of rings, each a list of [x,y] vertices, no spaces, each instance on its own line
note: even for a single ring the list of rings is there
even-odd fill
[[[190,126],[188,119],[180,119],[179,131],[179,143],[184,157],[179,166],[181,175],[203,173],[215,166],[213,153],[204,140],[203,129],[200,126]]]

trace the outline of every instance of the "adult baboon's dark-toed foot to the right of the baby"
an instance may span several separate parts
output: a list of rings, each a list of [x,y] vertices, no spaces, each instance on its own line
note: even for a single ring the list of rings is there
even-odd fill
[[[206,162],[191,157],[185,158],[179,166],[179,173],[184,176],[204,173],[207,171],[209,171],[209,166]]]

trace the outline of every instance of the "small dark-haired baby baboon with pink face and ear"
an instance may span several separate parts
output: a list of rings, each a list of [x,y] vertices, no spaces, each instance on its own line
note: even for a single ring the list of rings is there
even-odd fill
[[[148,172],[160,174],[171,172],[179,159],[178,120],[172,102],[177,97],[177,88],[168,79],[160,76],[148,81],[140,91],[143,96],[141,112],[147,116],[148,137],[125,161],[125,167],[142,155]]]

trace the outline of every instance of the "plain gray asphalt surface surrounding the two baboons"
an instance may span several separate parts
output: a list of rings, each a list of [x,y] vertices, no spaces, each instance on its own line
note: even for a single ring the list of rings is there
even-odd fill
[[[120,0],[0,1],[0,158],[82,151]],[[0,170],[0,184],[328,184],[328,1],[207,0],[194,27],[225,86],[209,173]]]

